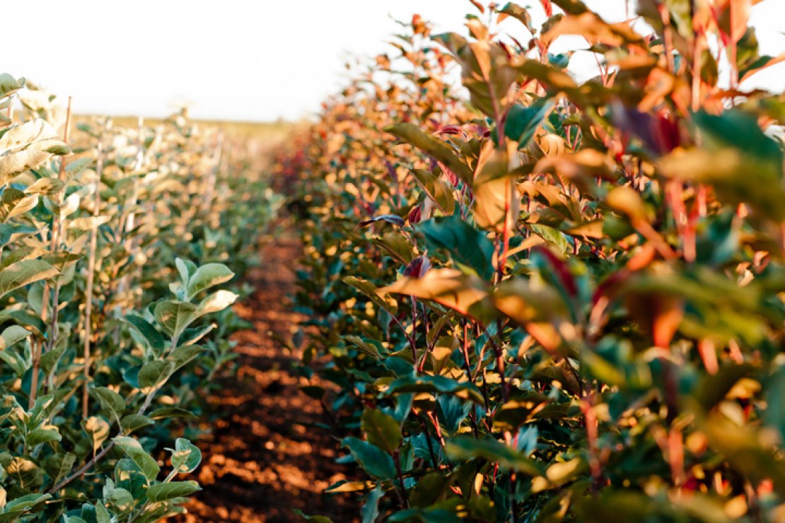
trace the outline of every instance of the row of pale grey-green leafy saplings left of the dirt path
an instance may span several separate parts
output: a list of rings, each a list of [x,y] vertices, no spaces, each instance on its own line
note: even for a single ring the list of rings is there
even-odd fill
[[[0,108],[0,521],[158,521],[199,490],[177,436],[277,198],[182,115],[69,138],[70,108],[8,74]]]

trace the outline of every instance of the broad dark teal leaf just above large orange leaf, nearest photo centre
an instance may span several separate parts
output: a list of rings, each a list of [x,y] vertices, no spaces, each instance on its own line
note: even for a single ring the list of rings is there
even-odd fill
[[[493,276],[493,243],[487,234],[477,231],[458,214],[433,218],[417,228],[425,234],[431,249],[447,250],[455,263],[471,267],[480,278],[489,280]]]

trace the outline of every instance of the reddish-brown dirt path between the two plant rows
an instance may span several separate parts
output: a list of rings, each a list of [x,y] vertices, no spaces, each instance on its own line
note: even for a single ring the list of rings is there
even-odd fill
[[[249,275],[257,291],[236,311],[253,328],[236,332],[239,373],[210,398],[213,433],[199,442],[203,487],[181,521],[301,521],[292,509],[352,521],[356,507],[323,490],[351,474],[334,463],[337,441],[312,427],[323,421],[319,401],[303,394],[288,354],[273,338],[291,336],[298,316],[287,298],[294,291],[300,245],[278,239],[261,253]]]

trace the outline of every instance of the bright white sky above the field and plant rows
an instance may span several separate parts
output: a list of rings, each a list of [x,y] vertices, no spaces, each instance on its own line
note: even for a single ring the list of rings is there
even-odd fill
[[[485,2],[484,2],[485,3]],[[539,2],[519,0],[521,5]],[[623,20],[623,0],[587,0]],[[394,20],[413,13],[461,31],[468,0],[5,0],[0,72],[74,97],[79,113],[298,119],[344,82],[349,56],[388,50]],[[476,11],[475,11],[476,12]],[[761,52],[785,51],[785,0],[753,9]],[[539,19],[542,20],[542,19]],[[517,31],[513,21],[502,28]],[[520,31],[523,35],[523,31]],[[586,53],[582,53],[586,55]],[[588,56],[579,58],[586,63]],[[755,86],[782,91],[785,64]]]

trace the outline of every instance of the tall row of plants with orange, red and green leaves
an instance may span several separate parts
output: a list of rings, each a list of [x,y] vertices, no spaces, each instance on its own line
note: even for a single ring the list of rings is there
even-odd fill
[[[305,390],[367,473],[328,491],[363,521],[783,518],[783,97],[741,84],[780,60],[751,2],[641,0],[652,35],[473,3],[469,38],[415,16],[284,164],[302,372],[339,389]]]

